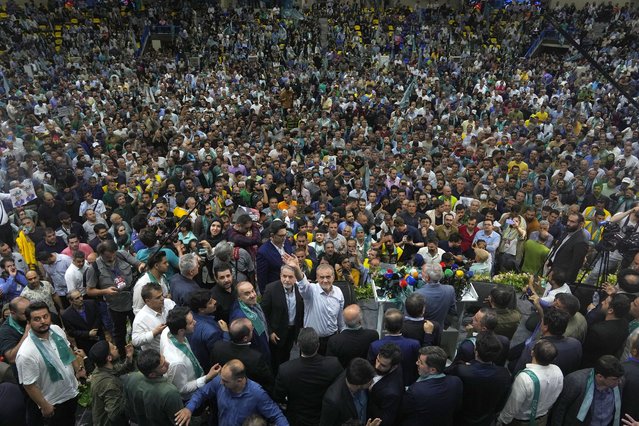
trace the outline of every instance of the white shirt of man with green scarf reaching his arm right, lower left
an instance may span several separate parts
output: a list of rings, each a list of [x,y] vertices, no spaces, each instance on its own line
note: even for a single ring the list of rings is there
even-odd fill
[[[191,347],[186,339],[184,344]],[[206,384],[206,376],[195,377],[195,369],[191,360],[169,340],[168,328],[164,329],[160,337],[160,353],[169,363],[169,370],[164,377],[180,391],[183,400],[191,398],[196,390]]]

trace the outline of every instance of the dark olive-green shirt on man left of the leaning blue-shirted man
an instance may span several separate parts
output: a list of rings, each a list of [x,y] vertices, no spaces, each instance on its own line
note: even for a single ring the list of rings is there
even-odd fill
[[[148,379],[140,372],[126,376],[124,390],[130,419],[139,426],[175,426],[184,408],[180,392],[165,378]]]

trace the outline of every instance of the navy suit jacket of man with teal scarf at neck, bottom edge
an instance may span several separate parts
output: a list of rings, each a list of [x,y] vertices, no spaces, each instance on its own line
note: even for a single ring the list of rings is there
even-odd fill
[[[402,399],[402,426],[447,426],[453,424],[463,396],[459,377],[444,376],[410,385]]]

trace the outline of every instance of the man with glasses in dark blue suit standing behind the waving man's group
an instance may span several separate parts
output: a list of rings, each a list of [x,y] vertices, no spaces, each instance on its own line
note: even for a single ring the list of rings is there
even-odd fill
[[[257,250],[256,271],[257,285],[260,293],[264,294],[266,285],[280,279],[280,269],[282,262],[282,254],[293,253],[293,247],[286,239],[288,231],[286,224],[279,219],[271,223],[269,228],[271,239],[260,246]]]

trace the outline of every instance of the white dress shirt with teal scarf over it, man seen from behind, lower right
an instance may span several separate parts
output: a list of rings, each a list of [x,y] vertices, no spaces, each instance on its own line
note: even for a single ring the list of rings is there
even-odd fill
[[[532,370],[539,379],[540,391],[536,416],[544,416],[561,393],[564,375],[555,364],[546,366],[526,364],[526,368]],[[515,377],[508,401],[499,415],[499,421],[504,424],[510,423],[513,419],[527,421],[530,418],[534,389],[532,379],[526,373],[519,373]]]

